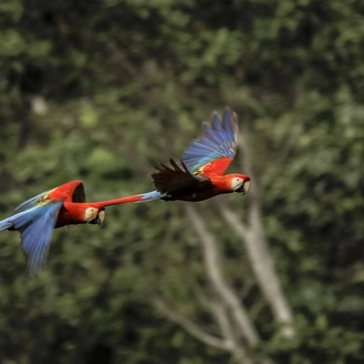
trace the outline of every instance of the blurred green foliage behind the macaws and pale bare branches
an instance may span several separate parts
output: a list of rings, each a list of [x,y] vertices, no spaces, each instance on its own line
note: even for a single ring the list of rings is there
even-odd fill
[[[211,202],[224,271],[277,363],[364,361],[364,4],[358,0],[8,0],[0,4],[0,211],[74,179],[88,200],[152,189],[213,109],[247,126],[266,235],[299,338],[285,343]],[[234,162],[238,170],[239,154]],[[245,216],[246,200],[224,196]],[[54,232],[25,276],[0,234],[0,362],[233,363],[150,306],[214,325],[183,204],[110,207]]]

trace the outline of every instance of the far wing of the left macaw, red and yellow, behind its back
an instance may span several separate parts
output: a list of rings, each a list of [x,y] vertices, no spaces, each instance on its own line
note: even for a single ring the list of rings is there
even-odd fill
[[[85,202],[86,195],[82,181],[71,181],[50,191],[40,193],[39,195],[21,203],[15,208],[14,214],[36,206],[43,206],[58,200],[67,202]]]

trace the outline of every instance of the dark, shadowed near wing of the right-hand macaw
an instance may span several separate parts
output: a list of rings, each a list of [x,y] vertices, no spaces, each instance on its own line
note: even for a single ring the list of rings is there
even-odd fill
[[[191,174],[183,162],[179,165],[173,159],[170,159],[170,163],[172,167],[157,165],[157,172],[152,174],[158,192],[173,196],[196,191],[201,188],[213,186],[208,178]]]

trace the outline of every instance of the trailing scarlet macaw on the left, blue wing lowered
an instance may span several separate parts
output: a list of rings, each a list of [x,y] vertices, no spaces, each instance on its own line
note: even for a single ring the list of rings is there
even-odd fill
[[[0,221],[0,231],[19,231],[28,270],[36,274],[44,265],[54,228],[65,225],[97,224],[105,218],[105,207],[131,201],[129,197],[85,202],[82,181],[71,181],[20,204],[14,214]]]

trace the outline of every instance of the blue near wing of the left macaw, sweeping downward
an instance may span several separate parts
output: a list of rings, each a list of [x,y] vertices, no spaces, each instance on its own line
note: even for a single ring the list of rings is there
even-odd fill
[[[30,274],[36,274],[44,265],[50,240],[63,201],[43,203],[40,206],[20,211],[0,222],[0,231],[19,231],[23,251],[28,256]]]

